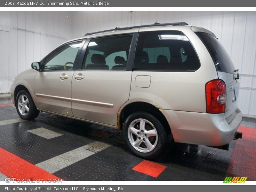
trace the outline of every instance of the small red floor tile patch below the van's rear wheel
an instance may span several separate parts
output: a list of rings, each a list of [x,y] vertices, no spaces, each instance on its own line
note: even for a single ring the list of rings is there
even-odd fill
[[[142,161],[138,165],[132,168],[132,170],[150,175],[152,177],[158,177],[161,172],[165,170],[166,166],[157,164],[151,161]]]

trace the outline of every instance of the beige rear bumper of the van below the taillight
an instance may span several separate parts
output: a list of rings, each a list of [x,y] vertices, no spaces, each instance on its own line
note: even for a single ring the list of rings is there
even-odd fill
[[[242,113],[228,124],[225,114],[208,114],[160,109],[166,117],[175,142],[207,146],[222,146],[232,141],[241,123]]]

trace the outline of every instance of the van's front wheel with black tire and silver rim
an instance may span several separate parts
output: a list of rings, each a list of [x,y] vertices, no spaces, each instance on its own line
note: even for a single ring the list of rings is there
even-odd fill
[[[40,111],[36,109],[35,103],[30,94],[25,90],[21,90],[17,94],[15,104],[21,119],[31,120],[35,119],[39,115]]]

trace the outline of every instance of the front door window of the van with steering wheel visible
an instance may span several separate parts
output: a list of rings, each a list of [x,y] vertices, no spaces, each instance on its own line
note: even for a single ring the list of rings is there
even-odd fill
[[[82,41],[63,45],[45,59],[44,71],[72,70]]]

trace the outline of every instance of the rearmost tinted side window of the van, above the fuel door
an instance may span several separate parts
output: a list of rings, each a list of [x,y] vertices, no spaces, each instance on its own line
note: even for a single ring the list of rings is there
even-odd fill
[[[195,71],[197,54],[181,31],[140,32],[134,70]]]

